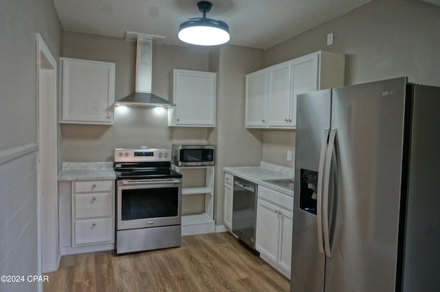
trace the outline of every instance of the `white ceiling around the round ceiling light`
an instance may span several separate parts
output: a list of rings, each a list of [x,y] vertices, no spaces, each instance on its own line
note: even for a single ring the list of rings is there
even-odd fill
[[[230,44],[267,49],[371,0],[211,0],[210,19],[225,21]],[[125,38],[126,32],[164,36],[183,45],[179,25],[202,14],[198,0],[54,0],[64,30]]]

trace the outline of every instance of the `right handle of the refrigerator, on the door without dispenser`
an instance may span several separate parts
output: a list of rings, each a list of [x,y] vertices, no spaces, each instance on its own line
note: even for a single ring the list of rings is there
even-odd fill
[[[324,186],[322,188],[322,228],[324,234],[325,255],[331,258],[330,236],[329,236],[329,185],[330,185],[330,166],[335,148],[336,128],[332,128],[329,136],[329,146],[325,155]]]

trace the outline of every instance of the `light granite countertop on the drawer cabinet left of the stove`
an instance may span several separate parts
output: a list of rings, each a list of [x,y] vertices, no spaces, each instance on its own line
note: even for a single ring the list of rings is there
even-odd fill
[[[63,162],[58,181],[116,179],[113,162]]]

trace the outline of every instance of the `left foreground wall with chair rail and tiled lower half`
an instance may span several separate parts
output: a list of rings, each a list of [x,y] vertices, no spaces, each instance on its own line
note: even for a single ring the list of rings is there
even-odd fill
[[[52,0],[1,1],[0,275],[40,272],[36,151],[29,150],[36,145],[36,33],[58,59],[63,30]],[[38,289],[0,282],[0,291]]]

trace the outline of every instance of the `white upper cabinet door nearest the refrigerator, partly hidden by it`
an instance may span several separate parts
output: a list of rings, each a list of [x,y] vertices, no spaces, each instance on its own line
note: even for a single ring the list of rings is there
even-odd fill
[[[292,113],[292,127],[296,127],[296,96],[318,90],[318,60],[318,54],[310,54],[292,60],[292,80],[290,82],[292,86],[292,107],[290,111]]]

